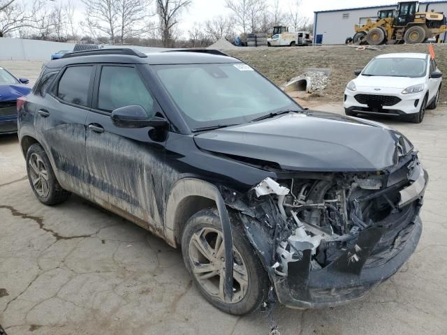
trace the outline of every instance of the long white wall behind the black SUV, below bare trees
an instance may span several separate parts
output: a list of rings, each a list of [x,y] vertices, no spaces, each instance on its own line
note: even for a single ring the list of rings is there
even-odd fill
[[[22,40],[0,38],[0,60],[49,61],[51,54],[59,50],[73,50],[75,44],[50,42],[47,40]],[[162,47],[140,47],[138,45],[104,45],[104,47],[131,47],[142,52],[166,50]]]

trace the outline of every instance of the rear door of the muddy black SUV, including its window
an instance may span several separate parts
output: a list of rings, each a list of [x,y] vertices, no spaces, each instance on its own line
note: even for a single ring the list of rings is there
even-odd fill
[[[48,94],[34,94],[36,137],[62,187],[88,198],[85,119],[91,104],[93,65],[63,68]],[[51,75],[49,75],[51,77]]]

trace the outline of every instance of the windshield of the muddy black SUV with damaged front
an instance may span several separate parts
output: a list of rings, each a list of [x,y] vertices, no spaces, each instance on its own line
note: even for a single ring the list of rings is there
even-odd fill
[[[191,129],[244,124],[265,114],[302,110],[247,64],[153,68]]]

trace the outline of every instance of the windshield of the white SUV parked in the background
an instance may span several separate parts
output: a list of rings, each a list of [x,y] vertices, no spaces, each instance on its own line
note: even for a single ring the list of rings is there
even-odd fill
[[[418,58],[376,58],[367,65],[362,75],[385,77],[424,77],[427,60]]]

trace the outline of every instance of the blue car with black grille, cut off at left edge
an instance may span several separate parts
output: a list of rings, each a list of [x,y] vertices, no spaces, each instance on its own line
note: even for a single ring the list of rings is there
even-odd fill
[[[17,132],[17,98],[29,94],[28,82],[0,67],[0,134]]]

